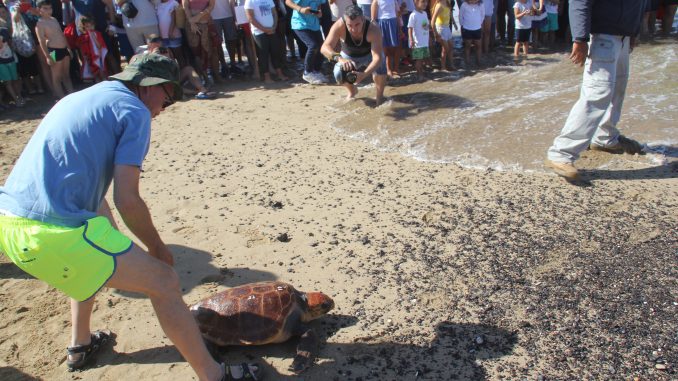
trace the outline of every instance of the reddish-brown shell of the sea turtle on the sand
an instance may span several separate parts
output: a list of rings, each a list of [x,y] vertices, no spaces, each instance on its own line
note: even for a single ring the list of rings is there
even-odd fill
[[[214,294],[190,307],[203,336],[217,345],[281,343],[297,334],[306,294],[282,282],[261,282]]]

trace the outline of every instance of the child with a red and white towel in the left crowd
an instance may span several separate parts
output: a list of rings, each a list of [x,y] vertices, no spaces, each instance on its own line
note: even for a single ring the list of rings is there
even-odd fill
[[[105,81],[108,77],[106,70],[106,55],[108,48],[104,37],[94,29],[94,20],[87,16],[81,16],[78,20],[78,50],[82,58],[80,75],[83,80],[94,82]]]

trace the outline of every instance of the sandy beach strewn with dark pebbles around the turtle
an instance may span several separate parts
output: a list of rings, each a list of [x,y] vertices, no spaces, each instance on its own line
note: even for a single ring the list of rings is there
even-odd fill
[[[678,377],[675,157],[587,152],[579,185],[422,162],[330,128],[339,87],[252,86],[156,118],[142,196],[187,303],[280,280],[336,309],[312,324],[322,345],[301,377],[294,340],[224,361],[267,380]],[[37,109],[3,116],[2,182]],[[197,379],[147,299],[104,289],[92,319],[116,344],[69,373],[66,297],[0,257],[1,380]]]

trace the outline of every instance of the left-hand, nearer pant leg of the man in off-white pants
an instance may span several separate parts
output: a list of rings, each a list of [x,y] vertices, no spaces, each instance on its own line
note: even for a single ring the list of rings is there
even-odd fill
[[[621,51],[618,38],[591,36],[579,100],[574,104],[560,135],[549,148],[549,160],[571,163],[590,144],[605,114],[609,112],[617,80],[617,57]]]

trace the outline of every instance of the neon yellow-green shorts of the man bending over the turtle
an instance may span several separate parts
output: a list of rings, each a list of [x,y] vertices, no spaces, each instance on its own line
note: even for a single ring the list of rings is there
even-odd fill
[[[115,272],[132,241],[106,217],[77,228],[0,216],[0,252],[25,272],[78,301],[91,298]]]

